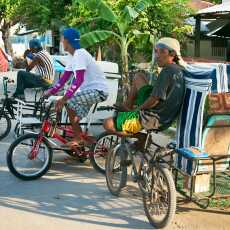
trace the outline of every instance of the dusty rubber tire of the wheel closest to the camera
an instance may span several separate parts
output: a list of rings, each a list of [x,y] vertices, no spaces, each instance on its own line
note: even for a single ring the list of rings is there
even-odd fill
[[[165,217],[162,220],[157,220],[150,212],[148,204],[148,195],[143,195],[143,205],[145,214],[149,223],[156,229],[161,229],[168,226],[174,218],[176,212],[176,189],[171,172],[164,166],[152,166],[152,169],[159,170],[160,174],[164,177],[168,189],[168,209]],[[151,180],[152,182],[152,180]],[[156,192],[155,192],[156,193]],[[156,205],[156,202],[155,202]],[[159,210],[157,211],[159,212]]]

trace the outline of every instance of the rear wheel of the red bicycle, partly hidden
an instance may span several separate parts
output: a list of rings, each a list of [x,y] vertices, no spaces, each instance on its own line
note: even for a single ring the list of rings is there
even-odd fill
[[[89,159],[95,170],[105,174],[105,162],[108,152],[121,142],[121,137],[107,132],[97,138],[97,143],[92,145]]]

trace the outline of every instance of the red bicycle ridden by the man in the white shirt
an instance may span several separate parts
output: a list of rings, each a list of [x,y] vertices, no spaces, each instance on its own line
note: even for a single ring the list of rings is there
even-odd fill
[[[94,110],[96,109],[94,106]],[[11,173],[22,180],[37,179],[49,170],[53,151],[62,150],[67,154],[78,158],[81,162],[90,159],[92,166],[99,172],[105,172],[105,159],[108,149],[119,143],[116,136],[103,133],[97,139],[97,143],[83,146],[76,150],[60,146],[55,143],[66,144],[73,137],[73,131],[69,123],[59,123],[56,112],[53,113],[53,102],[48,106],[39,133],[28,133],[16,139],[8,149],[7,165]],[[81,123],[82,124],[82,123]],[[96,125],[96,123],[92,123]],[[86,129],[82,139],[87,139]]]

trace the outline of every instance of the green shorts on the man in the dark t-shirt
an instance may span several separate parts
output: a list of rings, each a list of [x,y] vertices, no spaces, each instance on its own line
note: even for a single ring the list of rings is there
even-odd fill
[[[146,99],[150,97],[152,90],[152,85],[145,85],[142,88],[140,88],[137,92],[135,105],[142,105],[146,101]],[[122,131],[122,125],[126,122],[126,120],[133,116],[139,116],[139,112],[119,112],[118,115],[114,118],[116,130]]]

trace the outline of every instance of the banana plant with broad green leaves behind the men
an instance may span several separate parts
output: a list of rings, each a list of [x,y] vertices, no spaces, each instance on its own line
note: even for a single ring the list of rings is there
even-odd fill
[[[153,42],[153,36],[150,33],[143,33],[133,28],[133,22],[140,16],[147,7],[151,6],[155,0],[139,0],[134,7],[125,6],[124,10],[118,14],[102,0],[75,0],[75,2],[84,4],[92,12],[97,11],[97,18],[88,19],[82,23],[78,29],[83,33],[81,36],[81,45],[85,48],[93,46],[96,43],[113,38],[121,51],[121,72],[122,87],[128,87],[128,47],[136,39],[140,41]],[[105,21],[107,27],[104,29],[96,28],[90,30],[89,24],[99,21]],[[100,24],[100,23],[98,23]]]

